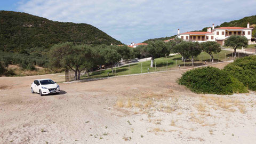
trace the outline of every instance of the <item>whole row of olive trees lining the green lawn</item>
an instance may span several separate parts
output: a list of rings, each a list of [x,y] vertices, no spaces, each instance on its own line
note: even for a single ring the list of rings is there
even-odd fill
[[[236,39],[236,45],[234,45],[234,39]],[[246,46],[247,42],[243,39],[241,36],[236,36],[236,38],[230,36],[226,44],[233,46],[236,52],[238,47]],[[220,52],[221,47],[217,42],[187,42],[179,38],[175,38],[174,41],[168,43],[163,41],[149,42],[148,45],[141,45],[133,49],[126,45],[107,46],[103,44],[92,47],[90,45],[74,45],[71,42],[67,42],[54,45],[51,48],[50,64],[54,68],[73,70],[75,72],[75,80],[77,80],[80,79],[82,70],[88,72],[92,69],[101,69],[102,65],[110,66],[113,73],[113,67],[121,59],[129,60],[151,57],[150,67],[153,67],[154,59],[167,57],[170,53],[179,53],[182,56],[182,61],[191,59],[194,66],[194,58],[202,51],[208,53],[213,62],[213,53]]]

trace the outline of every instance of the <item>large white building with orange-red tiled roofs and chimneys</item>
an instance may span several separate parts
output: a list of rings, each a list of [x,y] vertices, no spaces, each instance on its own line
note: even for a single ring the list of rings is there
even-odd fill
[[[227,39],[231,35],[241,35],[245,36],[249,44],[251,44],[252,38],[252,29],[250,28],[249,22],[247,23],[247,28],[242,27],[219,27],[214,28],[214,24],[212,24],[212,29],[209,27],[207,32],[195,31],[195,32],[187,32],[180,33],[180,29],[178,29],[178,37],[184,39],[185,41],[196,41],[196,42],[206,42],[206,41],[215,41],[221,45],[224,45],[225,39]]]

